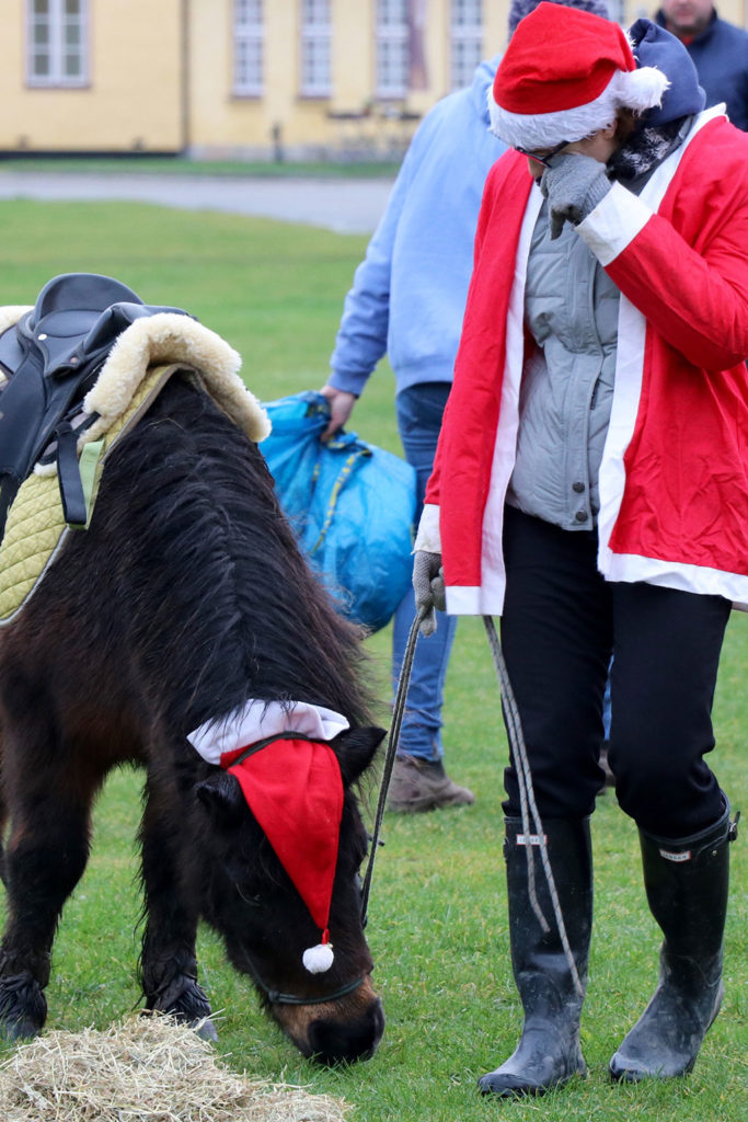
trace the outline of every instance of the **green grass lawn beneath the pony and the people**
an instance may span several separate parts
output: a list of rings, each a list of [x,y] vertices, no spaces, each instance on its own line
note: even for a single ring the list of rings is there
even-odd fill
[[[0,304],[33,303],[54,274],[110,273],[148,303],[187,309],[244,356],[248,385],[269,399],[322,385],[342,300],[366,239],[306,227],[154,206],[3,203]],[[357,407],[368,440],[398,450],[386,364]],[[388,698],[389,634],[369,641]],[[715,699],[714,766],[735,807],[748,807],[748,618],[728,629]],[[604,794],[594,816],[597,916],[582,1033],[590,1078],[537,1101],[481,1100],[475,1079],[514,1049],[520,1027],[509,972],[501,862],[501,772],[507,747],[498,687],[479,620],[460,623],[447,679],[450,770],[474,807],[409,819],[388,816],[375,873],[369,939],[388,1026],[377,1056],[317,1069],[267,1022],[247,981],[201,934],[202,977],[229,1063],[256,1077],[342,1095],[353,1122],[748,1120],[745,839],[732,847],[727,997],[695,1072],[673,1084],[611,1086],[607,1064],[654,988],[658,938],[640,884],[636,830]],[[48,987],[49,1028],[105,1028],[138,1003],[133,848],[140,780],[112,775],[94,849],[68,902]],[[667,792],[663,792],[667,798]],[[373,795],[372,795],[373,803]]]

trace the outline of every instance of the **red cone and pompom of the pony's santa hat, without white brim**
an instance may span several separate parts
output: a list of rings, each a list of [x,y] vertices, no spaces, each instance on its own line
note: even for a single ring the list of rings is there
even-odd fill
[[[329,744],[287,734],[221,756],[312,919],[320,944],[304,951],[311,974],[330,969],[330,905],[338,866],[343,780]]]

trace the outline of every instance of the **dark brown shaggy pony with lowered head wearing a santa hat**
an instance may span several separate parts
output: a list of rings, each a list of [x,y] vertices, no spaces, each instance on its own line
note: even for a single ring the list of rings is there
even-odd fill
[[[146,1008],[214,1037],[204,918],[305,1056],[370,1056],[384,1015],[354,795],[384,735],[369,705],[359,632],[299,554],[257,444],[195,370],[170,370],[107,453],[87,528],[0,628],[6,1038],[45,1022],[92,804],[135,763]]]

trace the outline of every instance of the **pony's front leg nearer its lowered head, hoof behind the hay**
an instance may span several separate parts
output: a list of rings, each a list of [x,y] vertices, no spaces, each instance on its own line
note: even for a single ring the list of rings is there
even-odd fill
[[[172,1013],[197,1028],[205,1040],[218,1040],[211,1006],[197,982],[195,937],[197,911],[185,899],[179,875],[174,824],[158,810],[147,784],[140,826],[146,926],[140,975],[146,1009]]]

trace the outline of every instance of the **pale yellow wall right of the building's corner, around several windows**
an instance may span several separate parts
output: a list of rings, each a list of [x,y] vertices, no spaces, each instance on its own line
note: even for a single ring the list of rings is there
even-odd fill
[[[450,92],[450,0],[424,0],[427,86],[378,104],[376,0],[331,0],[330,98],[299,94],[299,0],[265,2],[265,93],[232,92],[231,0],[191,0],[191,150],[198,156],[271,155],[274,136],[290,158],[348,153],[397,155],[418,119]],[[720,15],[742,25],[748,0],[720,0]],[[653,16],[628,2],[626,22]],[[506,48],[509,0],[483,0],[483,57]],[[373,101],[373,107],[372,107]],[[367,107],[368,116],[363,116]],[[359,114],[358,118],[354,114]],[[405,119],[398,118],[397,114]]]

